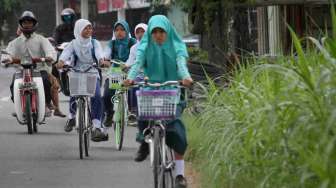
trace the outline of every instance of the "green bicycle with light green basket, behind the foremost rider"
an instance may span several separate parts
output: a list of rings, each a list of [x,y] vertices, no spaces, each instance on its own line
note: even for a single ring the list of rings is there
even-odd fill
[[[117,150],[121,150],[124,141],[125,126],[128,124],[128,103],[127,103],[127,88],[122,85],[126,80],[127,75],[122,70],[124,62],[119,60],[110,60],[112,64],[119,65],[118,67],[111,66],[103,71],[105,78],[109,79],[109,89],[114,89],[115,94],[111,98],[113,104],[113,128],[114,141]]]

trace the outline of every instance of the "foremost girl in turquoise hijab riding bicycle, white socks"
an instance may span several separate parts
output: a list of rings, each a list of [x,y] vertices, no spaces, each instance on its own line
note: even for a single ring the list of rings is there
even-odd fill
[[[148,30],[142,38],[136,56],[136,63],[130,69],[125,85],[134,84],[138,72],[143,69],[148,82],[163,83],[165,81],[182,80],[182,84],[190,86],[193,82],[187,69],[188,52],[186,45],[177,34],[170,21],[163,15],[151,17]],[[177,117],[183,111],[182,102],[178,105]],[[148,126],[147,122],[139,121],[139,133]],[[180,118],[167,125],[167,145],[175,152],[176,186],[186,187],[184,177],[183,155],[187,149],[186,130]],[[149,147],[144,140],[136,153],[135,161],[141,162],[149,154]]]

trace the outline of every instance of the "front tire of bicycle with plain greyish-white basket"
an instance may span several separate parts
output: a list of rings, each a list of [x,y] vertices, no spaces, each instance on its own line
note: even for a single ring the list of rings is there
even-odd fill
[[[83,133],[84,133],[84,102],[82,99],[78,101],[77,110],[78,113],[78,144],[79,144],[79,158],[83,159]]]

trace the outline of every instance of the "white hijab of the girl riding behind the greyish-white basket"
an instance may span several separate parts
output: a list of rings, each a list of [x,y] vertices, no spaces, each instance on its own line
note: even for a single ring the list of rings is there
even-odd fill
[[[82,32],[86,26],[92,25],[90,21],[86,19],[79,19],[75,23],[74,35],[75,40],[73,41],[73,47],[76,52],[76,55],[81,61],[91,62],[92,61],[92,43],[91,37],[84,38],[82,37]]]

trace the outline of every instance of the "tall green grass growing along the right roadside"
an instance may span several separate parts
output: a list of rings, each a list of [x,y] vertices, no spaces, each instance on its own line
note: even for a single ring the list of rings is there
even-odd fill
[[[322,43],[308,38],[315,48],[305,51],[290,29],[296,56],[256,59],[228,88],[210,85],[188,128],[203,187],[336,187],[333,29]]]

